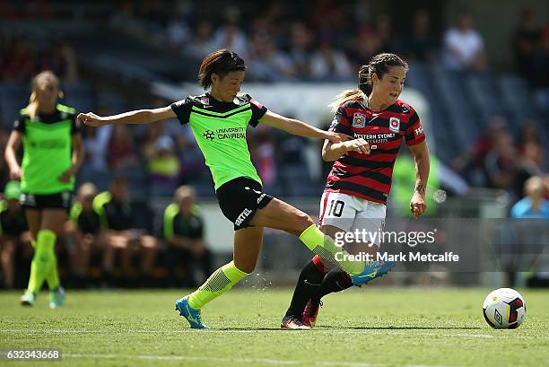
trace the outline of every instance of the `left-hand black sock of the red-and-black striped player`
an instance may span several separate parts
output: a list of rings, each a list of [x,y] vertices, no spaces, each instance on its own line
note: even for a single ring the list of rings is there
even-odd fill
[[[301,269],[300,278],[293,290],[292,302],[286,311],[286,316],[295,316],[301,319],[305,305],[311,297],[318,291],[318,286],[322,283],[325,273],[318,270],[318,267],[309,261],[303,269]]]

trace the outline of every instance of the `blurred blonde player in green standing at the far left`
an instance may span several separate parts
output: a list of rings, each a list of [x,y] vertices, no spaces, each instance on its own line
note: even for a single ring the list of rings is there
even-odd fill
[[[74,109],[57,103],[61,96],[55,74],[45,71],[34,77],[29,105],[13,124],[4,154],[10,179],[21,179],[21,204],[34,245],[29,286],[21,298],[27,306],[34,305],[44,281],[48,282],[49,307],[56,308],[65,299],[54,248],[71,205],[83,144]],[[16,152],[21,143],[20,166]]]

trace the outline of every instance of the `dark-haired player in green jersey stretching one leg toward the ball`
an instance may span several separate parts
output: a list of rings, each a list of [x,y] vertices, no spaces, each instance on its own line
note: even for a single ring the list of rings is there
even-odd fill
[[[246,129],[259,122],[293,135],[341,142],[336,133],[319,130],[293,118],[269,111],[248,94],[239,94],[246,66],[234,52],[214,51],[203,60],[198,79],[205,90],[200,96],[187,97],[160,109],[141,109],[115,116],[81,114],[83,123],[95,127],[105,124],[147,124],[166,118],[179,118],[189,124],[196,142],[212,171],[215,193],[222,213],[234,223],[233,260],[217,269],[194,293],[176,301],[176,310],[191,328],[205,328],[200,309],[227,292],[256,267],[263,242],[263,228],[289,232],[315,254],[336,263],[349,274],[360,274],[364,263],[348,261],[334,241],[320,232],[309,215],[263,192],[261,179],[250,161]],[[339,255],[339,256],[336,256]],[[299,327],[299,326],[296,326]]]

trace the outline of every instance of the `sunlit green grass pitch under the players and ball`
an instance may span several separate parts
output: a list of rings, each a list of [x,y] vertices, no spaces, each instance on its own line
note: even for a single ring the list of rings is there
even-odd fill
[[[549,293],[519,290],[527,317],[492,330],[489,289],[364,287],[325,297],[317,328],[281,330],[291,290],[232,290],[207,305],[210,330],[188,329],[182,291],[68,291],[64,308],[0,293],[0,349],[58,348],[63,366],[547,366]],[[52,365],[51,362],[0,365]]]

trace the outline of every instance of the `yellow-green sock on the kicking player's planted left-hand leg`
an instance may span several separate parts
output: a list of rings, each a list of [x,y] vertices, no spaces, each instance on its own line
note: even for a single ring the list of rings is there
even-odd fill
[[[202,309],[207,302],[229,291],[234,284],[248,275],[235,267],[234,261],[231,261],[215,270],[200,288],[188,295],[189,306],[196,310]]]

